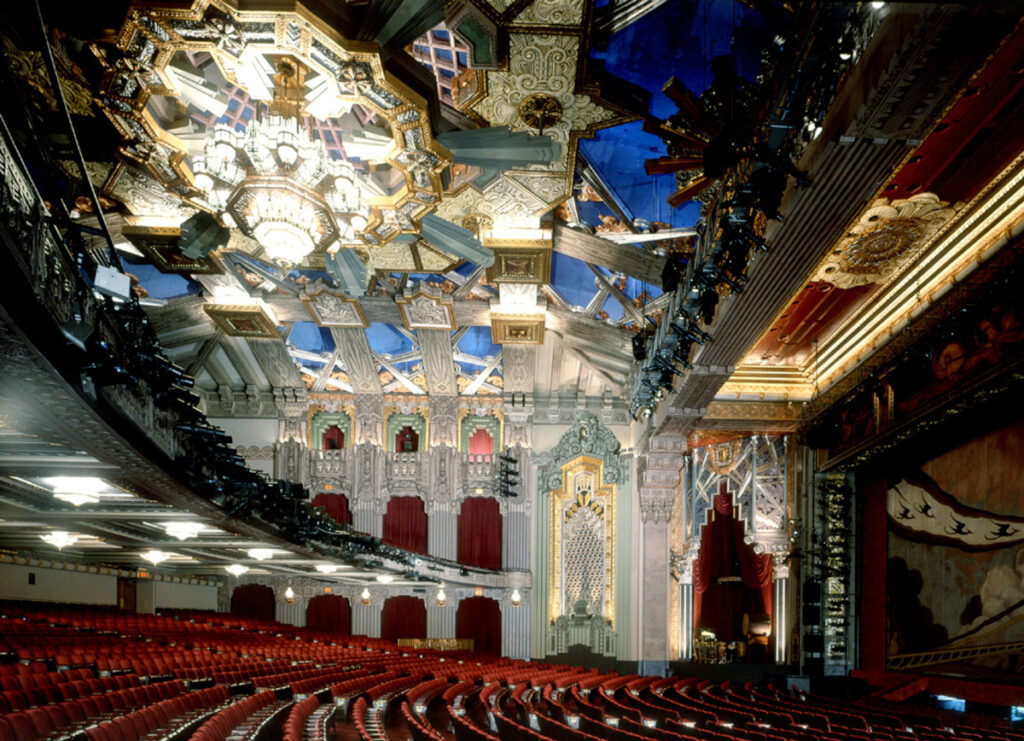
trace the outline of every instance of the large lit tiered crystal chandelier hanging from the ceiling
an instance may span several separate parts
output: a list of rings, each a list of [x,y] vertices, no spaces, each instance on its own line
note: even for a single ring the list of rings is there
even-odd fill
[[[219,124],[193,161],[196,187],[227,226],[290,267],[314,252],[358,243],[371,216],[345,160],[301,125],[301,87],[290,62],[278,67],[270,113],[238,132]]]

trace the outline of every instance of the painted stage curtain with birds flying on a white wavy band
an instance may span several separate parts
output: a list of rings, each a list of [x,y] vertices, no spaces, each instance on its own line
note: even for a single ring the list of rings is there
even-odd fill
[[[1022,455],[1024,418],[890,481],[890,668],[1024,669]]]

